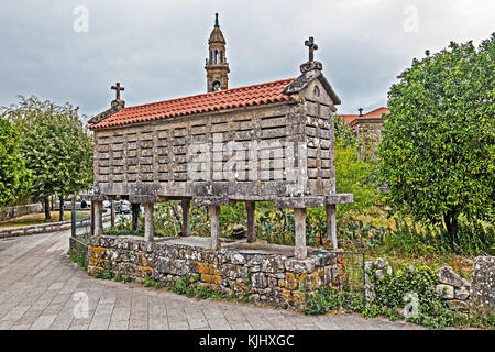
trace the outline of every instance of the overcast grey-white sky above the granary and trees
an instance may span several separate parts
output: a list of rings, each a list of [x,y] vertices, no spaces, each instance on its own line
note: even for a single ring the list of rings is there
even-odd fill
[[[297,77],[314,36],[341,113],[386,106],[425,50],[495,31],[493,0],[2,0],[0,106],[35,95],[90,117],[116,81],[128,107],[205,92],[216,12],[230,88]]]

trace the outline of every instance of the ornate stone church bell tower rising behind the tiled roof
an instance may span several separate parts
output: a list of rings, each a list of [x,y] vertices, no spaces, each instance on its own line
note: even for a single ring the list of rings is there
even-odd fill
[[[208,40],[209,57],[206,59],[207,89],[218,91],[229,88],[229,64],[226,56],[226,38],[218,24],[218,13],[215,14],[215,28]]]

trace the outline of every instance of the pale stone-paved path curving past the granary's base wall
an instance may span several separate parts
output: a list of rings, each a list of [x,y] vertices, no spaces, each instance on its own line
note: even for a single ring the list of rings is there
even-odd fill
[[[67,256],[69,235],[63,231],[0,240],[0,329],[420,329],[380,318],[308,317],[199,300],[97,279]]]

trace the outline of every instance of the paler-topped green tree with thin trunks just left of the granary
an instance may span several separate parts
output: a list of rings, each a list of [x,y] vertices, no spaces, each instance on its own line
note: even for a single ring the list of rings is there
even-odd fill
[[[48,197],[57,194],[63,220],[64,197],[92,184],[91,136],[79,120],[78,108],[36,97],[20,100],[19,106],[4,109],[3,116],[21,130],[21,153],[33,175],[31,196],[45,202],[48,219]]]

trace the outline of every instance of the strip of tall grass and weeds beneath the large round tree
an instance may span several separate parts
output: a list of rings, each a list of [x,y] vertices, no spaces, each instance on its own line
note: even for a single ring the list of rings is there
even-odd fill
[[[378,213],[341,219],[338,238],[341,248],[365,253],[367,261],[385,257],[393,265],[410,263],[433,270],[448,265],[460,276],[471,279],[474,257],[494,255],[493,231],[491,223],[465,224],[463,221],[458,239],[452,243],[439,227]]]

